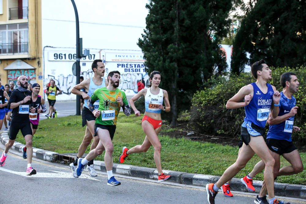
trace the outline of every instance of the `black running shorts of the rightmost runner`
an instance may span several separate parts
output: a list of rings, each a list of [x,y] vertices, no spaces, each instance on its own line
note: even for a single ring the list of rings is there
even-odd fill
[[[273,139],[269,138],[266,141],[269,150],[275,152],[279,155],[290,153],[297,148],[294,146],[293,142],[289,142],[285,139]]]

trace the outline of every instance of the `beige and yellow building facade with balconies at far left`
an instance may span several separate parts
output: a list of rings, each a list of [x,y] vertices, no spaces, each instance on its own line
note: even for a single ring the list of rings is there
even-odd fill
[[[41,0],[0,0],[0,78],[43,87]],[[40,95],[43,90],[41,89]]]

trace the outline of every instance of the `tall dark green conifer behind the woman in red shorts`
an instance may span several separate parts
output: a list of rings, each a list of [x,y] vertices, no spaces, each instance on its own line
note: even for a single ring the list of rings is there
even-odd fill
[[[162,74],[160,87],[169,94],[172,126],[178,110],[190,108],[203,81],[226,69],[219,43],[230,25],[231,5],[230,0],[152,0],[146,6],[147,26],[138,46],[146,71]]]

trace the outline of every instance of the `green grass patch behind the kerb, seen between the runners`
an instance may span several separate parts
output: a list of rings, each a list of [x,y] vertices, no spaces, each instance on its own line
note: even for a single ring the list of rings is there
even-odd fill
[[[131,115],[126,117],[119,113],[114,143],[114,162],[118,163],[122,147],[128,148],[142,144],[144,132],[141,128],[142,117]],[[77,152],[84,137],[86,126],[82,128],[80,116],[68,116],[47,119],[39,122],[39,129],[33,137],[33,146],[58,153]],[[164,128],[166,130],[166,128]],[[232,165],[238,154],[238,147],[215,143],[202,143],[184,138],[171,138],[160,136],[162,143],[162,168],[189,173],[200,173],[221,176],[227,167]],[[24,143],[19,132],[16,141]],[[89,152],[90,146],[87,148]],[[151,147],[145,153],[132,154],[124,164],[155,168],[154,149]],[[302,162],[306,162],[306,153],[300,153]],[[104,154],[96,158],[104,159]],[[242,178],[251,172],[254,165],[260,160],[255,155],[235,177]],[[289,163],[281,157],[281,167]],[[292,176],[280,176],[277,182],[291,184],[306,184],[306,171]],[[263,180],[263,172],[259,173],[256,180]]]

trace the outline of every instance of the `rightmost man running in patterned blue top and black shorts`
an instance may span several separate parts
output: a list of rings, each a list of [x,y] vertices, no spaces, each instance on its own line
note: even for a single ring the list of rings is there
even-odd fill
[[[291,139],[292,132],[300,131],[299,127],[293,126],[294,116],[297,114],[298,109],[296,99],[293,96],[299,87],[296,74],[293,72],[283,73],[281,76],[281,85],[283,91],[281,92],[279,101],[279,113],[277,117],[273,117],[271,114],[269,115],[268,123],[270,127],[266,141],[270,153],[275,160],[274,178],[277,176],[297,174],[304,169],[300,154]],[[289,161],[291,165],[284,166],[280,169],[280,155]],[[266,195],[266,182],[263,181],[263,187],[254,202],[257,204],[268,203]]]

